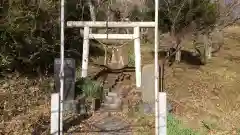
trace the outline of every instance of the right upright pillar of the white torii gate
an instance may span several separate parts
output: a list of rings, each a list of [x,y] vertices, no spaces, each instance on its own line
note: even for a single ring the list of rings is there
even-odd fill
[[[141,87],[141,49],[140,49],[140,28],[134,27],[134,53],[135,53],[135,73],[136,86]]]

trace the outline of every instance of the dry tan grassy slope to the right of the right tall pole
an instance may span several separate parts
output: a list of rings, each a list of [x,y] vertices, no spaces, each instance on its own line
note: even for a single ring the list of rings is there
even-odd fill
[[[240,128],[240,27],[227,28],[224,34],[223,47],[206,65],[183,58],[167,67],[165,88],[186,127],[233,135]]]

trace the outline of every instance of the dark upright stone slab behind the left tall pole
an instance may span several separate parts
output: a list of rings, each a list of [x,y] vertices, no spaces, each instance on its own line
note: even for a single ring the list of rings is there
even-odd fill
[[[55,91],[60,93],[60,67],[61,61],[59,58],[54,60],[54,80]],[[65,58],[64,60],[64,113],[76,112],[76,104],[73,102],[75,99],[75,60],[72,58]]]

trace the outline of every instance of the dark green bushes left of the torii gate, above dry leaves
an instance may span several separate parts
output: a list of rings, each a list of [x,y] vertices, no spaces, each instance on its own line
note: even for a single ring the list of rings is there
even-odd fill
[[[60,57],[60,1],[30,2],[33,1],[4,3],[0,19],[1,71],[46,73],[53,70],[54,58]],[[67,3],[66,20],[88,19],[88,8],[84,14],[75,10],[76,2]],[[65,57],[81,60],[81,42],[79,29],[66,29]]]

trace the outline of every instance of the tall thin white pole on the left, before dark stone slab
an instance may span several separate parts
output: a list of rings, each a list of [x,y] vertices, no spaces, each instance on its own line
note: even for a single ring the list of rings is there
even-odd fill
[[[63,91],[64,91],[64,0],[61,0],[61,67],[60,67],[60,135],[63,135]]]

